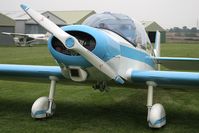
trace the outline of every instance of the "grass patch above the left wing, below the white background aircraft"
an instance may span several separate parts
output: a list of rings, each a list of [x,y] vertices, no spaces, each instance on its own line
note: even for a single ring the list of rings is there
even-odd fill
[[[0,47],[1,64],[56,65],[46,45]]]

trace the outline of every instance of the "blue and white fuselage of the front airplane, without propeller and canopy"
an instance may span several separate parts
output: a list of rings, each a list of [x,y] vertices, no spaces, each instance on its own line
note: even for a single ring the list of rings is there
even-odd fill
[[[93,28],[86,25],[71,25],[62,29],[76,37],[86,49],[105,61],[118,75],[127,81],[131,81],[129,77],[133,70],[156,69],[156,64],[151,58],[153,56],[151,44],[143,41],[143,38],[137,40],[140,41],[140,44],[133,44],[121,35],[107,29]],[[142,31],[139,30],[139,32]],[[140,34],[145,35],[146,33]],[[146,43],[141,44],[142,42]],[[51,36],[48,40],[48,48],[66,78],[74,81],[110,80],[84,57],[64,48],[54,36]]]

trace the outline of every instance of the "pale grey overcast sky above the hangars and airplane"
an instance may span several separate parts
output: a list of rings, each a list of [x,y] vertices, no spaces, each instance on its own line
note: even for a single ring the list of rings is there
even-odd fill
[[[21,10],[22,3],[35,10],[122,13],[138,21],[156,21],[166,29],[199,23],[199,0],[0,0],[0,11]]]

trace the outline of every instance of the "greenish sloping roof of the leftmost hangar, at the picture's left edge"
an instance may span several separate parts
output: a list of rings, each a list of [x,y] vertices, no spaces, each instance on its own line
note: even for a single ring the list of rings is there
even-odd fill
[[[0,13],[0,26],[15,26],[15,21]]]

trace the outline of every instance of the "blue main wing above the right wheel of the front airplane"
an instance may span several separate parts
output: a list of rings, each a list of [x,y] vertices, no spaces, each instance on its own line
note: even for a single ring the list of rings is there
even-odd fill
[[[199,73],[175,71],[133,71],[131,80],[134,83],[146,84],[154,81],[157,86],[163,87],[198,87]]]

